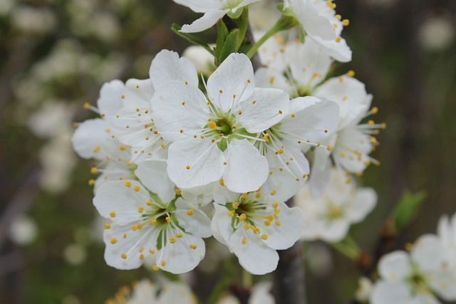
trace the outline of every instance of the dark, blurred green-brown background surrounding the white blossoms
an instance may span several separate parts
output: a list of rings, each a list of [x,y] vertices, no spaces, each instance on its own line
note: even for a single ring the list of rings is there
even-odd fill
[[[403,248],[456,211],[456,1],[336,4],[351,21],[343,37],[353,50],[336,75],[355,70],[380,109],[375,120],[387,125],[373,154],[382,165],[363,177],[378,206],[353,236],[373,251],[401,194],[424,190],[395,245]],[[254,28],[269,21],[266,5],[252,7]],[[96,116],[83,104],[95,105],[105,81],[147,78],[162,48],[182,54],[189,45],[170,26],[197,16],[170,0],[0,0],[0,303],[103,303],[150,276],[105,265],[91,162],[70,139],[74,122]],[[309,304],[348,303],[356,266],[323,243],[306,252]],[[200,281],[214,280],[209,262]]]

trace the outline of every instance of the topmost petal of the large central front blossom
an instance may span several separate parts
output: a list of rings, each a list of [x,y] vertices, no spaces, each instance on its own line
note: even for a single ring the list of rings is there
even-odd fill
[[[207,95],[216,108],[228,112],[239,101],[252,96],[254,77],[250,59],[244,54],[232,53],[207,80]]]

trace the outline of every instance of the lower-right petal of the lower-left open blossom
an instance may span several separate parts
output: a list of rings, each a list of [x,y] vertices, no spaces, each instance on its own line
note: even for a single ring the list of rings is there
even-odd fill
[[[190,248],[191,245],[196,246],[195,249]],[[168,242],[155,253],[155,263],[170,273],[187,273],[198,266],[205,252],[206,246],[200,237],[183,234],[182,238],[176,238],[175,243]],[[162,261],[166,262],[165,266]]]

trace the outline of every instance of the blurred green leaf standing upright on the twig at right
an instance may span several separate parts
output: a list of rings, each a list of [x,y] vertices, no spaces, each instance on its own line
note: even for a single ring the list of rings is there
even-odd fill
[[[405,226],[410,224],[410,222],[415,219],[415,216],[418,214],[418,210],[420,209],[420,206],[426,196],[427,194],[424,191],[420,191],[415,194],[410,193],[410,191],[403,192],[398,205],[391,214],[395,233],[404,229]]]

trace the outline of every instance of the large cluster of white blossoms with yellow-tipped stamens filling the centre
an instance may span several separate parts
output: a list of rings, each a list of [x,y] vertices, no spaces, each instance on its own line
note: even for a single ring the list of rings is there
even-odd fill
[[[375,162],[368,154],[380,125],[360,124],[377,111],[368,110],[371,95],[353,72],[323,82],[333,59],[351,58],[340,37],[348,21],[331,1],[286,1],[275,28],[283,30],[286,21],[309,39],[261,38],[267,66],[255,72],[247,56],[255,47],[238,53],[242,40],[229,37],[240,34],[224,32],[220,18],[236,19],[242,32],[247,6],[256,1],[176,2],[204,13],[180,35],[214,23],[227,34],[212,51],[217,68],[204,77],[188,58],[160,51],[149,78],[105,83],[97,107],[85,105],[100,117],[73,135],[76,152],[97,160],[91,172],[100,175],[89,183],[106,219],[105,260],[131,269],[149,257],[155,271],[185,273],[204,257],[203,239],[214,236],[247,271],[269,273],[279,261],[276,250],[291,247],[304,231],[302,210],[285,201],[311,174],[312,194],[320,195],[332,163],[359,173]],[[361,191],[346,197],[343,203],[355,206],[347,214],[365,196],[367,213],[375,194]],[[365,216],[352,213],[351,221]]]

